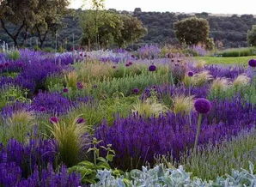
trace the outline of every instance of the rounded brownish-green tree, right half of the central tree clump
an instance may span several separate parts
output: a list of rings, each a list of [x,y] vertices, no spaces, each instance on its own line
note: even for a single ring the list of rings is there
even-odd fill
[[[119,46],[127,46],[137,42],[148,32],[147,28],[143,27],[142,21],[131,15],[120,15],[124,27],[121,29],[121,38],[118,39]]]

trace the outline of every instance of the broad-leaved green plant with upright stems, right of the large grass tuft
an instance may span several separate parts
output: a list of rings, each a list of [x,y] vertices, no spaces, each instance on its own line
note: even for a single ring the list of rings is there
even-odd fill
[[[111,149],[112,145],[110,144],[107,145],[107,148],[101,146],[100,148],[107,152],[105,158],[101,157],[99,148],[100,143],[101,141],[98,141],[96,138],[94,138],[92,142],[93,147],[88,149],[88,153],[92,152],[93,154],[93,162],[85,160],[78,163],[77,166],[72,166],[69,168],[69,172],[78,172],[81,174],[83,184],[95,184],[98,180],[96,177],[98,170],[111,169],[109,164],[113,161],[115,152],[113,149]],[[119,176],[121,171],[116,169],[114,173],[115,175]]]

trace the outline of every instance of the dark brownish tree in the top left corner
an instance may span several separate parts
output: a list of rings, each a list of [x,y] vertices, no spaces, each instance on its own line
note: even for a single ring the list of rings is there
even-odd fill
[[[37,0],[1,0],[0,3],[0,22],[4,32],[14,41],[15,46],[18,45],[18,37],[23,28],[32,27],[38,19],[34,13],[37,7]],[[6,23],[15,25],[15,31],[11,32]]]

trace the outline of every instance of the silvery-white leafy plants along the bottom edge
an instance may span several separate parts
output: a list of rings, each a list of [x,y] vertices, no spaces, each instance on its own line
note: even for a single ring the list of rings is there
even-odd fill
[[[136,187],[136,186],[159,186],[159,187],[176,187],[176,186],[192,186],[192,187],[241,187],[255,186],[256,174],[254,166],[249,162],[249,170],[241,169],[233,170],[225,178],[216,178],[214,181],[205,181],[201,178],[192,178],[191,173],[185,172],[183,166],[178,169],[169,169],[162,165],[155,166],[152,169],[143,166],[143,170],[132,170],[125,175],[115,178],[113,172],[107,169],[98,171],[97,178],[100,182],[91,184],[91,187]]]

